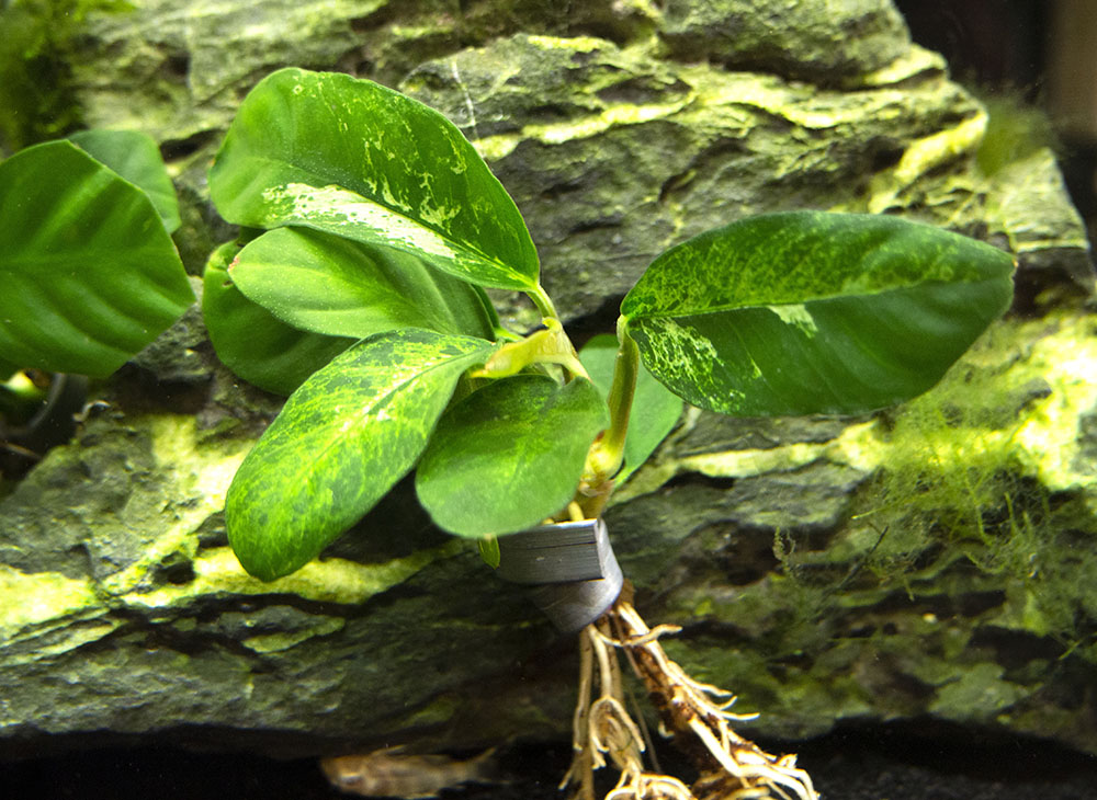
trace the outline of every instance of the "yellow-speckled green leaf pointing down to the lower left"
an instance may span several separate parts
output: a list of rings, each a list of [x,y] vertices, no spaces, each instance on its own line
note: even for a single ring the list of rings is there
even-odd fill
[[[411,469],[462,373],[494,347],[391,331],[302,384],[228,489],[225,525],[244,568],[286,575],[358,522]]]

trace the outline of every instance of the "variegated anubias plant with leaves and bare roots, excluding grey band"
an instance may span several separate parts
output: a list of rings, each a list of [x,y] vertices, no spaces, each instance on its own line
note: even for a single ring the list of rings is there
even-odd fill
[[[211,336],[239,375],[290,395],[225,508],[240,563],[267,581],[316,558],[411,470],[441,528],[490,542],[598,516],[672,427],[678,398],[740,415],[901,402],[1011,298],[1009,255],[961,236],[894,217],[768,214],[659,255],[621,304],[615,340],[577,354],[522,217],[474,147],[437,112],[346,75],[261,81],[210,188],[244,230],[206,270]],[[524,293],[543,325],[505,328],[488,288]],[[615,644],[668,727],[704,745],[697,795],[814,797],[792,756],[738,738],[722,693],[666,658],[666,630],[622,597],[584,631],[578,793],[592,797],[608,754],[622,772],[614,797],[691,796],[644,772],[607,654]]]

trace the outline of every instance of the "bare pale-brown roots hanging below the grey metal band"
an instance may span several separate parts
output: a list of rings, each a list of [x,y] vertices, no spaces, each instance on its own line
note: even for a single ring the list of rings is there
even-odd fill
[[[593,772],[609,757],[621,777],[604,800],[818,800],[794,755],[766,753],[732,729],[757,715],[732,713],[731,693],[694,681],[667,656],[659,637],[680,628],[648,628],[624,594],[580,633],[574,753],[561,788],[570,786],[574,800],[596,800]],[[624,707],[615,649],[624,651],[664,725],[700,769],[692,787],[644,769],[646,747]]]

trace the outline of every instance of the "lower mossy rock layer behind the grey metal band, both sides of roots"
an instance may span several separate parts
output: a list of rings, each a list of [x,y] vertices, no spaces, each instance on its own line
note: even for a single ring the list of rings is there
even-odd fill
[[[640,607],[685,626],[668,650],[755,733],[928,715],[1097,752],[1073,699],[1097,661],[1095,321],[1004,322],[884,416],[699,447],[717,420],[688,414],[607,514]],[[219,508],[249,444],[115,409],[0,504],[0,753],[566,735],[569,644],[409,492],[299,573],[244,575]]]

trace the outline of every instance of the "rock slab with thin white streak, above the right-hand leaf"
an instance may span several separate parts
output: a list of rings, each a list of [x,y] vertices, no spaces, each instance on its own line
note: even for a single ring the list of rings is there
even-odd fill
[[[400,83],[453,119],[507,186],[566,317],[601,313],[609,327],[614,298],[668,247],[794,207],[997,235],[1026,270],[1061,241],[1079,279],[1092,272],[1058,174],[1018,167],[991,181],[974,167],[986,115],[931,54],[908,47],[862,75],[858,91],[653,55],[518,35],[427,62]],[[1039,233],[1011,210],[1031,202],[1045,209]]]

